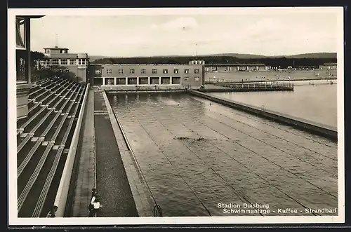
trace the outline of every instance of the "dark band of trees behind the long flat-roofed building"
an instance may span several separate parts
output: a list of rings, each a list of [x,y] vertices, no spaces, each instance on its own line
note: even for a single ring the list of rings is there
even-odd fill
[[[242,59],[232,56],[189,56],[189,57],[114,57],[94,60],[91,64],[188,64],[190,60],[204,60],[206,64],[265,64],[272,67],[319,67],[336,62],[336,58],[287,58],[264,57]]]

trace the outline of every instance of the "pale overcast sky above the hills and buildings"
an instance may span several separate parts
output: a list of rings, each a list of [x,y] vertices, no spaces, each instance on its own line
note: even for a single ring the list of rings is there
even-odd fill
[[[256,8],[152,13],[147,9],[147,15],[104,16],[97,11],[80,15],[65,11],[68,16],[46,13],[44,18],[32,20],[32,50],[42,52],[44,47],[55,46],[58,34],[58,46],[69,48],[69,53],[117,57],[336,52],[335,10]]]

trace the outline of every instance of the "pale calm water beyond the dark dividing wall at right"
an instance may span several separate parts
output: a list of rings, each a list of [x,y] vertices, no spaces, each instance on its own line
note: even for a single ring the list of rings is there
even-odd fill
[[[293,83],[293,81],[291,83]],[[298,84],[301,84],[301,81]],[[304,118],[316,123],[337,127],[336,84],[296,85],[293,92],[211,94],[237,102],[251,104],[256,107],[265,107],[265,109]]]

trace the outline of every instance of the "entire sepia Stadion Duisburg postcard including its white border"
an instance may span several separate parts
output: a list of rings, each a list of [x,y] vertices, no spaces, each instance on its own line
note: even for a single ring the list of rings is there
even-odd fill
[[[9,224],[345,221],[343,23],[8,9]]]

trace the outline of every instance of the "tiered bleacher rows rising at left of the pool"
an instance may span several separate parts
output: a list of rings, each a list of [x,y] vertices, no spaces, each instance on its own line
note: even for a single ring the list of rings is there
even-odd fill
[[[58,77],[35,83],[18,121],[18,217],[46,217],[55,200],[86,86]]]

